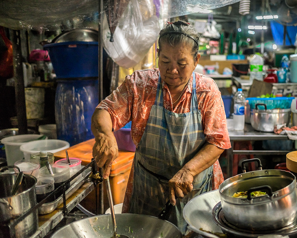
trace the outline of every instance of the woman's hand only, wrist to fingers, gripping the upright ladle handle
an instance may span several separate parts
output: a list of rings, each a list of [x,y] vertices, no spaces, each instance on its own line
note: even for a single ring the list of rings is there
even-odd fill
[[[118,145],[113,133],[98,133],[93,147],[93,157],[98,167],[104,168],[103,178],[107,179],[110,174],[113,161],[118,157]]]

